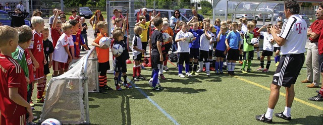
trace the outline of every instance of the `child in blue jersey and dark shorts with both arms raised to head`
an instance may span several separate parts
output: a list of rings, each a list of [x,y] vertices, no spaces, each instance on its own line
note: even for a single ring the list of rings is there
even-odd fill
[[[195,17],[194,17],[195,18]],[[197,17],[196,17],[197,20]],[[203,22],[205,23],[205,22]],[[189,25],[189,24],[188,24]],[[193,23],[193,29],[190,29],[189,32],[191,32],[194,35],[195,40],[193,40],[189,44],[190,48],[190,64],[189,64],[189,71],[192,75],[199,75],[196,72],[197,65],[198,65],[198,56],[199,56],[199,48],[200,48],[200,37],[204,33],[203,30],[198,29],[198,22]],[[194,60],[193,60],[194,59]],[[192,64],[194,61],[194,67],[192,71]]]

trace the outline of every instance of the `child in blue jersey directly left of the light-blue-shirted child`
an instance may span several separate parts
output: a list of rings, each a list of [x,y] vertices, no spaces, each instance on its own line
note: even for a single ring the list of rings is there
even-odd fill
[[[228,26],[227,25],[222,25],[220,27],[220,32],[217,36],[217,47],[216,47],[216,75],[224,74],[222,71],[223,68],[223,59],[226,57],[227,54],[227,46],[226,46],[226,38],[227,34],[226,32],[228,31]],[[219,67],[220,66],[220,67]]]

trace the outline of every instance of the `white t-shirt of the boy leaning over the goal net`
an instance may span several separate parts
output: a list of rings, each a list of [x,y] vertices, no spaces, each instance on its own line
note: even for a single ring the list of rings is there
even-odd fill
[[[74,46],[74,42],[72,35],[67,36],[65,33],[63,33],[57,41],[56,47],[52,54],[52,60],[67,63],[69,54],[66,53],[65,46],[70,48],[71,46]]]

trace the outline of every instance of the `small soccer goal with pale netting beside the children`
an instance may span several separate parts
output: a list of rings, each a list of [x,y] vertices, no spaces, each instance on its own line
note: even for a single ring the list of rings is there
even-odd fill
[[[98,92],[98,62],[95,47],[47,84],[39,122],[47,118],[64,124],[89,124],[89,92]]]

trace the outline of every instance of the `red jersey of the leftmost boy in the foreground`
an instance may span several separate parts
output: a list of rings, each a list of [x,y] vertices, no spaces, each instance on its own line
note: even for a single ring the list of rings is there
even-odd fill
[[[0,54],[0,111],[5,117],[27,113],[25,107],[9,98],[9,88],[18,88],[18,93],[27,101],[27,82],[18,62],[7,55]]]

